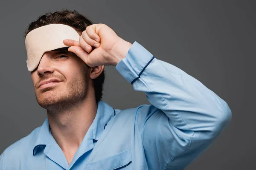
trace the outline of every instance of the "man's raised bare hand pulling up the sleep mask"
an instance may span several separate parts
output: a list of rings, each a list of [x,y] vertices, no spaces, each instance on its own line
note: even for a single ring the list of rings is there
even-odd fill
[[[87,26],[79,41],[63,40],[71,46],[68,51],[75,53],[88,66],[116,65],[131,47],[131,43],[120,38],[113,29],[105,24]],[[92,48],[95,49],[92,50]]]

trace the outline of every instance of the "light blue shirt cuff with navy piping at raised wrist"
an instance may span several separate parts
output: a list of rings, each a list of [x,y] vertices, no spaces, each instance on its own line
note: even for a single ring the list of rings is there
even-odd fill
[[[135,41],[125,58],[117,63],[116,69],[128,82],[133,84],[153,59],[154,56]]]

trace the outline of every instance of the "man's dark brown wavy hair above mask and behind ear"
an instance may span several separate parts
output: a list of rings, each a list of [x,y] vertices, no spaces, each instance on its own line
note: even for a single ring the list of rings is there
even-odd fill
[[[46,26],[49,24],[65,24],[74,28],[79,35],[86,29],[87,26],[93,24],[93,22],[85,17],[84,15],[79,14],[76,10],[70,11],[64,9],[62,11],[47,12],[44,15],[38,17],[37,20],[32,20],[24,34],[24,40],[26,35],[35,28],[41,26]],[[102,91],[105,80],[105,71],[102,71],[102,74],[99,75],[96,79],[93,79],[93,86],[95,90],[96,103],[102,99]]]

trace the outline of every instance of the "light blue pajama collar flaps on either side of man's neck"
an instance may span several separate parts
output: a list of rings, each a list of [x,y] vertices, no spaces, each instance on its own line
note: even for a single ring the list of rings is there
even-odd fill
[[[89,133],[91,136],[90,139],[92,140],[92,142],[97,142],[99,140],[99,137],[105,129],[105,126],[107,125],[108,121],[113,116],[115,116],[115,114],[116,111],[106,102],[102,100],[98,102],[98,108],[95,119],[93,120],[93,123],[90,125],[92,127],[89,128],[89,130],[92,130],[92,132],[90,132],[89,130],[87,131],[87,133]],[[45,147],[47,144],[50,144],[50,138],[52,138],[52,134],[50,133],[48,118],[46,118],[39,130],[35,145],[33,147],[33,155],[37,153],[39,146]]]

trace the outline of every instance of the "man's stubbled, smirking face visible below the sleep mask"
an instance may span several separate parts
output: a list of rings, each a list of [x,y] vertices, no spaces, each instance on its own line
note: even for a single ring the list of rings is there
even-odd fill
[[[31,72],[38,104],[49,111],[60,111],[78,103],[87,96],[88,66],[76,54],[64,51],[48,51]],[[41,82],[56,79],[41,85]]]

